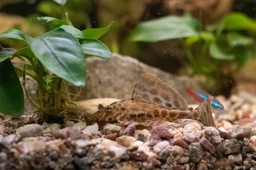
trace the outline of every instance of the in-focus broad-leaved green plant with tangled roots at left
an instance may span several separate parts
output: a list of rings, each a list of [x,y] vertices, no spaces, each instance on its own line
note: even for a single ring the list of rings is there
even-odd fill
[[[55,0],[60,5],[65,1]],[[107,46],[97,40],[109,27],[80,31],[66,19],[38,17],[47,26],[45,33],[32,37],[16,29],[0,33],[0,39],[14,39],[22,48],[3,48],[0,51],[0,112],[19,116],[24,112],[24,93],[37,108],[39,117],[53,114],[68,118],[66,104],[73,102],[68,91],[69,83],[86,85],[86,57],[111,58]],[[13,62],[14,57],[19,61]],[[20,83],[18,72],[22,72]],[[26,75],[37,81],[36,98],[26,89]]]

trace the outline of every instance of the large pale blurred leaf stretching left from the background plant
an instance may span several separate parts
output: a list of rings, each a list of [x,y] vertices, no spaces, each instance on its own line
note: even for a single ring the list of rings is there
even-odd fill
[[[131,41],[158,42],[167,39],[198,36],[199,22],[190,15],[166,16],[139,23],[131,32]]]

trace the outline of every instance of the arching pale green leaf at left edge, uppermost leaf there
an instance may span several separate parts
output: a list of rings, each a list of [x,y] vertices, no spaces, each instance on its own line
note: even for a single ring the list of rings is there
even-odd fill
[[[22,32],[16,29],[9,29],[3,33],[0,33],[0,39],[7,39],[7,38],[22,40],[27,44],[26,36]]]

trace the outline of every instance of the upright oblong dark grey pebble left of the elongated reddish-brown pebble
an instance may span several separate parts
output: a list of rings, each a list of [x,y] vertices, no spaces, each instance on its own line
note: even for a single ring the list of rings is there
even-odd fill
[[[188,156],[194,163],[198,163],[202,159],[202,147],[199,142],[193,142],[189,144]]]

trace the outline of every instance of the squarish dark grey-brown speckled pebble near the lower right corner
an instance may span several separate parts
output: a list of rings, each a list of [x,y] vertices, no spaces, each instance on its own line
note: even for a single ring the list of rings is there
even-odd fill
[[[225,155],[240,153],[241,145],[237,139],[226,139],[223,142],[223,151]]]

